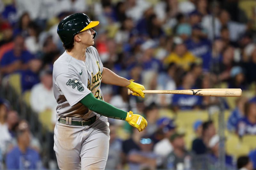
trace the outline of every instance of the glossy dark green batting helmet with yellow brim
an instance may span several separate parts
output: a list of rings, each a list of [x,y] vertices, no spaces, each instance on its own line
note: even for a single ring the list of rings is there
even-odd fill
[[[57,33],[63,45],[68,45],[77,33],[97,26],[99,23],[99,21],[91,21],[84,13],[75,13],[60,21]],[[96,35],[97,33],[95,31],[93,38],[95,38]]]

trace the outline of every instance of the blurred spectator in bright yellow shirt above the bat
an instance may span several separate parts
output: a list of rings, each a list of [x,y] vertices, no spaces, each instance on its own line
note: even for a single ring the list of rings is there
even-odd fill
[[[180,37],[173,38],[173,51],[164,59],[164,64],[175,63],[184,70],[189,70],[191,63],[196,60],[195,55],[188,51],[186,45]]]

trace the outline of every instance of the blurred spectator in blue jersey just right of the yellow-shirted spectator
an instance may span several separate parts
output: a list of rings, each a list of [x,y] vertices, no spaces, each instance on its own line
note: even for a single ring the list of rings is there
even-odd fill
[[[192,35],[185,44],[190,52],[202,59],[204,70],[209,70],[212,58],[211,42],[206,38],[199,24],[192,26]]]

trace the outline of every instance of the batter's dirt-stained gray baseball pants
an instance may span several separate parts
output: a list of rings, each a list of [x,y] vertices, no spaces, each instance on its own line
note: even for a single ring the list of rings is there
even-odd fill
[[[60,170],[104,170],[109,149],[108,118],[90,126],[70,126],[57,121],[54,151]]]

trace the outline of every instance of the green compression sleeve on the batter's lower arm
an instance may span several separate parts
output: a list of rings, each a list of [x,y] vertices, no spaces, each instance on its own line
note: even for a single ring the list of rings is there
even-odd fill
[[[88,109],[110,118],[125,120],[127,112],[118,109],[105,101],[96,99],[92,93],[86,95],[81,101]]]

